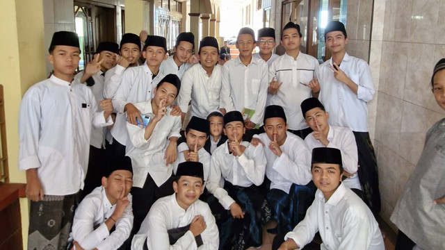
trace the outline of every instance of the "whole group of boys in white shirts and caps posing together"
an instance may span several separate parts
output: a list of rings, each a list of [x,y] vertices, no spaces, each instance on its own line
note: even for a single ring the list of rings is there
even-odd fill
[[[193,34],[181,33],[168,56],[165,38],[149,35],[141,48],[127,33],[120,45],[101,42],[74,76],[79,39],[54,33],[54,72],[26,92],[19,115],[29,249],[258,248],[271,217],[272,233],[296,226],[277,237],[280,249],[302,248],[316,231],[323,249],[382,249],[362,201],[380,210],[369,67],[346,53],[340,22],[325,28],[332,59],[321,66],[300,52],[301,37],[286,24],[277,56],[273,28],[257,41],[241,28],[238,58],[221,66],[216,38],[194,56]]]

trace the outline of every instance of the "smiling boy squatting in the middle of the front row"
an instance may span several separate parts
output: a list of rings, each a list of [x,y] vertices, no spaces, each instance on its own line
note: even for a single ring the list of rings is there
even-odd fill
[[[202,163],[180,163],[173,182],[175,194],[156,201],[134,236],[132,250],[218,249],[218,228],[207,203]]]

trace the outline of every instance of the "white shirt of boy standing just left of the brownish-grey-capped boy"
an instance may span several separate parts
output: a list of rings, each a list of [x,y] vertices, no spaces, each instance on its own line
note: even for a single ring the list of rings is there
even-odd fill
[[[215,65],[211,76],[208,76],[202,65],[196,64],[184,73],[177,99],[182,112],[187,112],[190,101],[191,116],[203,119],[206,119],[211,111],[220,108],[221,68],[221,65]]]

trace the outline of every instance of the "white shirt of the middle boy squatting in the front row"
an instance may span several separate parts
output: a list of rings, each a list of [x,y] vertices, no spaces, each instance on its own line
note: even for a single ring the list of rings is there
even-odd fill
[[[168,239],[168,230],[180,228],[191,224],[195,216],[201,215],[206,223],[206,228],[202,232],[201,247],[197,247],[195,237],[189,230],[174,245],[170,245]],[[215,217],[207,203],[195,201],[191,206],[184,210],[176,200],[176,194],[158,199],[149,210],[147,217],[140,225],[139,232],[134,235],[131,242],[131,250],[142,250],[147,239],[148,249],[153,250],[215,250],[219,245],[218,226],[215,223]]]

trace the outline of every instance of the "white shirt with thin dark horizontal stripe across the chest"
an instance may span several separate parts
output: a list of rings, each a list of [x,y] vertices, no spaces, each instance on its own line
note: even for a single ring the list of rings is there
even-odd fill
[[[289,129],[307,128],[300,104],[312,96],[312,90],[302,83],[308,84],[312,81],[317,71],[318,60],[301,51],[296,60],[284,53],[269,66],[269,83],[275,77],[275,81],[282,85],[277,94],[269,94],[268,104],[283,107]]]

